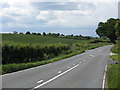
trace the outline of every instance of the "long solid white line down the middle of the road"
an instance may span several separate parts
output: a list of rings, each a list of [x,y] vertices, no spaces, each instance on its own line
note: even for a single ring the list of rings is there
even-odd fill
[[[78,67],[78,66],[79,66],[79,64],[75,65],[74,67],[72,67],[72,68],[70,68],[70,69],[64,71],[63,73],[61,73],[61,74],[59,74],[59,75],[57,75],[57,76],[55,76],[55,77],[49,79],[48,81],[46,81],[46,82],[44,82],[44,83],[42,83],[42,84],[40,84],[40,85],[34,87],[32,90],[42,87],[43,85],[45,85],[45,84],[47,84],[47,83],[49,83],[49,82],[51,82],[51,81],[57,79],[58,77],[64,75],[65,73],[67,73],[67,72],[73,70],[74,68],[76,68],[76,67]]]

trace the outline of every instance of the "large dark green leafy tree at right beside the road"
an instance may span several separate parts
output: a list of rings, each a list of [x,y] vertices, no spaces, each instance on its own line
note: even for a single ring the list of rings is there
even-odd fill
[[[116,39],[118,37],[118,31],[120,30],[119,24],[120,19],[110,18],[107,22],[100,22],[98,24],[98,28],[96,29],[96,33],[102,38],[109,38],[111,42],[116,43]],[[120,34],[119,34],[120,35]]]

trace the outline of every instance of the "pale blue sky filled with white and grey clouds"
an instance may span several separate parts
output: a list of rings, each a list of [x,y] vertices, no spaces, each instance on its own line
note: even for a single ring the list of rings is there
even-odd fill
[[[109,18],[118,18],[117,0],[0,1],[0,32],[6,33],[30,31],[96,37],[99,22]]]

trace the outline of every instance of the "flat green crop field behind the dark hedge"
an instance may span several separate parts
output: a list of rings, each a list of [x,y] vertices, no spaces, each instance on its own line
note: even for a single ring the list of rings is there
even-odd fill
[[[58,37],[50,37],[50,36],[41,36],[41,35],[17,35],[17,34],[3,34],[2,35],[2,43],[3,44],[24,44],[24,45],[53,45],[53,44],[72,44],[72,43],[81,43],[83,40],[75,40],[75,39],[65,39]]]

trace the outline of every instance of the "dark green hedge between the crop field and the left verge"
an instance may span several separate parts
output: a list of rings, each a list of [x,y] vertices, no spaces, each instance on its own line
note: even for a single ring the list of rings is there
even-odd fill
[[[31,47],[31,46],[9,46],[2,47],[2,63],[26,63],[34,61],[42,61],[58,56],[63,51],[67,51],[68,46],[46,46],[46,47]]]

